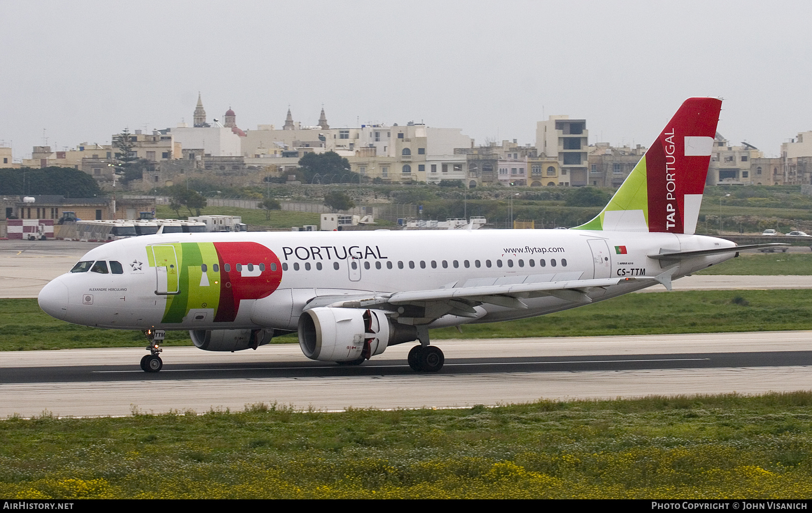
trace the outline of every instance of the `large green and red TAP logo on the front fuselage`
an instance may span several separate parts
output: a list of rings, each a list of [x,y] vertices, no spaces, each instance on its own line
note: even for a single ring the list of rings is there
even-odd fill
[[[279,258],[255,242],[153,244],[147,256],[166,295],[165,323],[234,321],[241,300],[266,297],[282,281]]]

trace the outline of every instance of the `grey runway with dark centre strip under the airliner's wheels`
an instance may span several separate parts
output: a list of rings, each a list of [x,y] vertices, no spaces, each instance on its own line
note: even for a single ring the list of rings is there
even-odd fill
[[[249,403],[347,407],[466,407],[537,399],[807,390],[812,332],[444,340],[440,373],[414,373],[410,344],[360,367],[307,360],[296,345],[209,353],[169,347],[143,373],[137,349],[0,354],[0,417],[241,410]]]

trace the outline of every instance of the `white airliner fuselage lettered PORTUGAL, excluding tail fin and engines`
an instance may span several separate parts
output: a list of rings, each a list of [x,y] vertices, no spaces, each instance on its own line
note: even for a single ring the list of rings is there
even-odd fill
[[[144,235],[94,248],[82,258],[118,262],[121,274],[92,270],[63,274],[43,289],[40,304],[64,321],[106,328],[296,330],[305,304],[318,296],[654,277],[673,266],[677,266],[673,278],[680,278],[728,260],[733,253],[662,266],[647,256],[661,250],[733,245],[702,235],[584,230]],[[167,258],[174,258],[175,264],[161,266],[158,260],[163,255],[170,255]],[[261,262],[266,264],[260,267]],[[113,269],[114,264],[107,267]],[[230,277],[223,269],[231,269]],[[589,295],[594,301],[605,300],[651,284],[629,282],[613,287],[611,293],[598,288]],[[525,304],[529,308],[482,304],[475,317],[446,316],[430,327],[533,317],[583,303],[546,296]]]

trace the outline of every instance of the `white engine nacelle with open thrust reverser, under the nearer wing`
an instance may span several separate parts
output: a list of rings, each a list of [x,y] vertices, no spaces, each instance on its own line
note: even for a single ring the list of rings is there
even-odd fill
[[[392,322],[382,310],[312,308],[299,317],[299,347],[311,360],[360,360],[416,338],[416,327]]]

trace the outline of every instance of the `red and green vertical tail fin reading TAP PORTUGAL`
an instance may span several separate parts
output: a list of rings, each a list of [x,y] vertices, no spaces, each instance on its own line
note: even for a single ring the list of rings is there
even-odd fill
[[[696,231],[722,101],[689,98],[609,204],[581,230]]]

